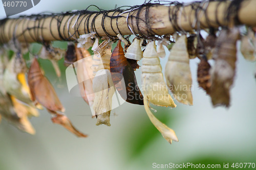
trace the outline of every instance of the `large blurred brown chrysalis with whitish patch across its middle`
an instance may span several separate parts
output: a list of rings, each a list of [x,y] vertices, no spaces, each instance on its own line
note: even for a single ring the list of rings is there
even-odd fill
[[[210,73],[210,97],[214,106],[229,106],[229,90],[235,75],[237,61],[236,43],[239,35],[239,29],[234,27],[221,30],[217,38],[216,47],[212,55],[212,58],[215,59],[215,65]]]

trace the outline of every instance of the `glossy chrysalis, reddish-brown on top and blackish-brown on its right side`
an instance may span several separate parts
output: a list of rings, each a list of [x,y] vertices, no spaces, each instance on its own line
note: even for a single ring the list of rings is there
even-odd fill
[[[124,57],[120,40],[110,58],[110,72],[113,83],[123,100],[143,105],[143,95],[138,87],[134,70]]]

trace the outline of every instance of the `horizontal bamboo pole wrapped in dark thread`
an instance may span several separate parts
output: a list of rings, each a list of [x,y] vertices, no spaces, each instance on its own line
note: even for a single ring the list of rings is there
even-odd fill
[[[200,3],[194,3],[194,5]],[[126,17],[130,28],[135,34],[143,34],[144,36],[165,35],[172,34],[177,31],[173,22],[170,22],[169,14],[177,16],[176,25],[184,31],[193,31],[197,28],[196,19],[200,23],[200,28],[228,26],[228,21],[225,19],[227,9],[230,1],[223,2],[208,2],[200,4],[206,10],[196,11],[192,5],[186,5],[177,10],[176,6],[156,5],[148,8],[148,18],[146,18],[146,8],[142,8],[138,14],[138,9],[129,13],[120,14],[118,18],[104,17],[103,14],[92,14],[89,22],[86,22],[87,15],[66,15],[61,17],[62,21],[56,16],[46,16],[46,18],[32,19],[32,18],[15,18],[0,21],[0,44],[6,43],[15,36],[19,41],[35,42],[35,41],[53,41],[53,40],[75,40],[81,34],[91,33],[93,18],[94,26],[97,34],[102,37],[106,36],[107,32],[110,36],[116,36],[119,31],[122,35],[133,34],[127,26]],[[175,13],[174,13],[175,12]],[[112,16],[114,12],[109,12]],[[115,12],[113,16],[119,13]],[[137,15],[138,14],[138,15]],[[89,16],[89,15],[88,15]],[[206,20],[208,18],[208,22]],[[238,18],[241,24],[248,26],[256,26],[256,1],[244,0],[241,8],[238,11]],[[104,29],[102,28],[102,17],[104,17]],[[139,17],[138,25],[136,24],[136,17]],[[146,22],[147,20],[147,22]],[[79,26],[77,23],[81,23]],[[76,27],[77,26],[77,27]],[[89,26],[89,27],[88,27]],[[89,28],[89,29],[87,29]],[[70,37],[73,35],[72,37]],[[63,39],[63,37],[70,37]]]

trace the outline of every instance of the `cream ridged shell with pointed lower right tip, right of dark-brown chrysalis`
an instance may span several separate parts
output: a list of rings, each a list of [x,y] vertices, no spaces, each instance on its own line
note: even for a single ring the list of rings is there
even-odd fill
[[[144,98],[157,106],[176,107],[163,80],[162,67],[157,57],[155,41],[149,42],[143,53],[142,85]]]

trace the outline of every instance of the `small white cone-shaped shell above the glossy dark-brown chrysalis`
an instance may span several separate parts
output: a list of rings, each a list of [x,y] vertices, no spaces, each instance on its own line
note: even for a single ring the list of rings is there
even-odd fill
[[[140,47],[140,39],[135,38],[133,43],[127,48],[127,52],[124,57],[133,59],[133,60],[141,60],[142,51]]]

